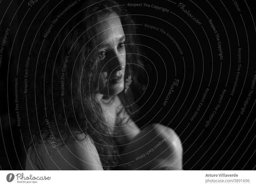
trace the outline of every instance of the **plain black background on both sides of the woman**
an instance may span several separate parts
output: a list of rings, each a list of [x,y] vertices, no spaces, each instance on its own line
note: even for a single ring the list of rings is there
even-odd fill
[[[190,10],[201,25],[182,12],[178,7],[180,2],[177,1],[147,1],[147,4],[169,9],[169,12],[152,7],[128,6],[136,23],[140,24],[138,34],[144,45],[142,49],[146,53],[145,62],[152,66],[152,72],[148,72],[148,88],[140,99],[141,105],[145,103],[140,108],[145,115],[136,123],[140,127],[149,123],[162,123],[174,129],[183,145],[184,170],[255,169],[256,90],[253,90],[244,114],[240,114],[240,111],[248,97],[256,71],[256,29],[253,21],[253,7],[256,6],[255,1],[236,2],[241,12],[237,11],[231,0],[182,1],[186,5],[184,9]],[[15,166],[19,165],[18,156],[22,147],[18,145],[20,129],[15,115],[14,78],[17,77],[18,61],[18,77],[22,80],[24,76],[24,64],[36,34],[36,30],[30,29],[26,35],[26,27],[44,4],[38,1],[28,11],[27,2],[12,2],[10,6],[9,3],[0,3],[1,20],[4,17],[1,22],[1,42],[7,27],[10,27],[11,33],[4,46],[0,67],[0,166],[3,170],[16,169]],[[125,5],[127,3],[145,2],[124,2]],[[13,18],[19,6],[19,11]],[[218,56],[218,43],[209,19],[212,19],[220,35],[222,61]],[[9,26],[11,20],[12,24]],[[162,28],[173,36],[183,54],[180,55],[170,38],[160,31],[145,27],[145,24]],[[237,72],[238,48],[241,48],[241,69],[234,95],[231,96]],[[164,100],[175,78],[179,79],[179,85],[174,87],[174,92],[164,106]],[[209,91],[204,104],[196,118],[190,121],[206,88]],[[220,108],[206,128],[206,121],[218,104],[223,89],[227,91]]]

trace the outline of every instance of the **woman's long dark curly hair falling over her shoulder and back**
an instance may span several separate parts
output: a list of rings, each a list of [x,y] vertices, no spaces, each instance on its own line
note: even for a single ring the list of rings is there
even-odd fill
[[[33,23],[38,33],[30,56],[28,94],[24,104],[27,108],[23,109],[26,113],[22,114],[26,116],[21,125],[22,139],[26,151],[29,147],[32,149],[31,159],[36,166],[45,169],[35,150],[42,140],[51,135],[45,122],[47,120],[54,136],[64,143],[72,135],[71,129],[89,135],[99,152],[103,169],[114,169],[120,164],[120,149],[115,138],[107,135],[103,112],[95,97],[95,93],[105,86],[98,81],[100,66],[96,66],[93,72],[91,70],[97,56],[95,48],[99,44],[98,18],[115,13],[123,25],[126,36],[125,73],[133,74],[133,81],[128,91],[125,94],[122,91],[118,96],[132,119],[137,117],[133,114],[136,106],[132,103],[145,88],[142,83],[145,81],[143,63],[141,56],[136,55],[141,53],[136,25],[126,6],[115,0],[81,0],[71,5],[69,0],[54,1],[42,10],[45,13],[43,19]],[[65,12],[61,12],[63,10]],[[45,35],[58,15],[60,18],[54,23],[52,31]],[[65,81],[61,82],[66,56]],[[65,88],[62,95],[61,87]]]

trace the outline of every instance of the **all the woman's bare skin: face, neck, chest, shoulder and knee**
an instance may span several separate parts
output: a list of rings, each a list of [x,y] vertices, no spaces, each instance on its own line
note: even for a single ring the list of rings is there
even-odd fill
[[[118,142],[125,145],[121,158],[129,163],[129,166],[120,169],[163,170],[170,165],[173,166],[168,170],[181,169],[182,160],[176,159],[182,156],[182,146],[179,137],[171,128],[151,124],[140,129],[130,117],[116,118],[116,115],[127,115],[118,97],[118,94],[124,90],[125,35],[116,14],[104,15],[99,19],[100,21],[102,21],[100,28],[103,32],[100,34],[99,54],[102,56],[101,61],[105,63],[100,79],[108,83],[108,89],[95,96],[106,108],[107,112],[103,114],[106,116],[105,125],[108,125],[109,134],[118,136]],[[111,50],[108,50],[110,47]],[[42,157],[44,168],[47,170],[103,170],[98,151],[90,136],[84,139],[84,134],[76,134],[76,131],[73,135],[74,137],[70,136],[65,144],[58,143],[58,146],[63,145],[61,148],[53,148],[51,142],[46,141],[39,144],[40,151],[36,153]],[[76,138],[84,140],[77,141]],[[165,141],[157,146],[163,139]],[[153,152],[138,159],[140,155],[156,146],[157,149]],[[38,169],[32,160],[34,161],[28,149],[26,170]]]

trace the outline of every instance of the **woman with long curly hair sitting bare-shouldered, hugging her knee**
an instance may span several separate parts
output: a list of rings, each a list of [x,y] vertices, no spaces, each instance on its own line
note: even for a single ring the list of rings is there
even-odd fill
[[[125,6],[58,3],[46,9],[32,48],[22,135],[26,169],[181,169],[175,132],[160,124],[140,129],[133,121],[134,100],[147,79]]]

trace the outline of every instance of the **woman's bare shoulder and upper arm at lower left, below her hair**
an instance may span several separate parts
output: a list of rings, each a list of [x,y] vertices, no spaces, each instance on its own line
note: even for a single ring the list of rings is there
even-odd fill
[[[44,141],[36,149],[33,156],[31,148],[28,150],[26,170],[38,169],[34,163],[38,155],[46,170],[103,170],[91,137],[84,133],[70,136],[66,143],[58,141],[52,145],[51,141]]]

